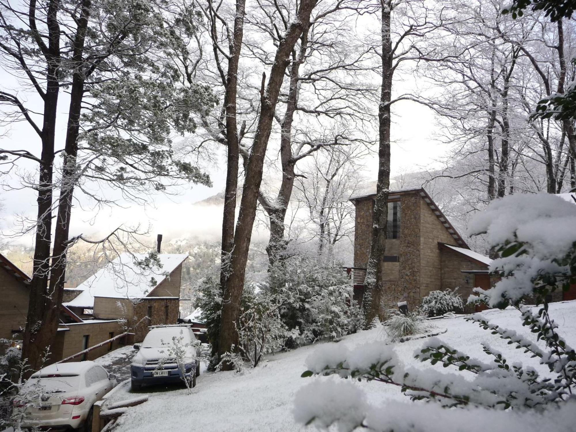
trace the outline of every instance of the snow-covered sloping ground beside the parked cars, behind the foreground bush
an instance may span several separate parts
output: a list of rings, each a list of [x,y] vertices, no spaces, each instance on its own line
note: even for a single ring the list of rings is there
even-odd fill
[[[552,304],[550,310],[552,317],[560,325],[560,334],[567,343],[576,346],[576,301]],[[492,309],[483,314],[491,322],[514,329],[535,340],[528,329],[522,327],[516,310]],[[488,342],[495,349],[502,351],[509,363],[522,361],[535,366],[541,373],[547,373],[547,367],[539,365],[535,359],[530,359],[522,353],[522,350],[514,349],[505,340],[492,336],[490,332],[476,324],[468,323],[462,317],[437,320],[433,324],[440,329],[448,329],[438,336],[439,339],[472,357],[487,361],[487,355],[482,352],[480,342]],[[346,336],[339,343],[354,348],[375,340],[387,343],[382,329]],[[420,363],[413,358],[414,351],[425,343],[425,339],[409,340],[395,344],[395,350],[406,364],[442,369],[441,366]],[[142,393],[150,395],[149,401],[130,408],[120,417],[115,430],[118,432],[305,430],[296,425],[293,419],[294,393],[310,380],[339,379],[334,376],[300,377],[306,370],[306,357],[317,347],[318,344],[270,355],[258,367],[243,373],[203,373],[192,394],[188,394],[185,388],[177,386],[168,389],[145,388]],[[451,369],[450,372],[455,371]],[[395,386],[378,382],[358,382],[357,385],[369,393],[370,401],[373,403],[407,400]],[[135,397],[129,388],[128,383],[123,385],[113,394],[110,403]]]

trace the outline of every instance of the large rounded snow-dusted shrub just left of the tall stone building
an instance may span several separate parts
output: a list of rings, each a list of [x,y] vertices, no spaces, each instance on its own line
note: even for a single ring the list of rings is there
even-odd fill
[[[352,300],[353,287],[342,266],[294,256],[272,268],[268,290],[283,298],[282,322],[298,332],[288,340],[289,348],[361,328],[361,308]]]

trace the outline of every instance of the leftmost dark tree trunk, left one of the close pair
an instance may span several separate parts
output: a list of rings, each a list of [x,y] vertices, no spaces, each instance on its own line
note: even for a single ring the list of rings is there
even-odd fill
[[[44,96],[44,118],[42,126],[42,152],[38,183],[38,211],[36,222],[35,250],[28,317],[24,331],[22,361],[30,368],[26,377],[43,366],[44,355],[54,346],[58,327],[59,309],[54,308],[54,293],[48,290],[50,275],[50,246],[52,242],[52,177],[54,173],[54,137],[58,94],[60,91],[60,26],[57,15],[60,3],[52,0],[47,10],[48,46],[43,50],[47,59],[46,94]],[[30,2],[31,21],[35,21],[36,1]],[[40,36],[38,36],[40,37]],[[42,43],[43,44],[43,43]]]

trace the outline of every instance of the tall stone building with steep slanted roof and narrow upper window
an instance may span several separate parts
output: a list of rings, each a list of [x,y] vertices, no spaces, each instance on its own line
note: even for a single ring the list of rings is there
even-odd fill
[[[370,255],[375,198],[376,194],[351,198],[356,207],[354,267],[347,271],[357,301],[362,299]],[[490,287],[491,260],[471,251],[424,189],[390,192],[387,234],[380,275],[388,303],[384,308],[399,301],[415,308],[434,290],[458,287],[466,299],[473,287]]]

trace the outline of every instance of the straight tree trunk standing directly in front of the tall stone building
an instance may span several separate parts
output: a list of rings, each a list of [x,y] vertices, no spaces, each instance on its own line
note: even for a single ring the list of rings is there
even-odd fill
[[[365,325],[382,317],[382,276],[384,275],[384,255],[386,249],[386,225],[388,221],[388,193],[390,189],[390,101],[392,96],[392,38],[391,38],[391,0],[382,0],[382,88],[378,107],[378,181],[376,184],[376,202],[374,203],[374,221],[372,225],[372,245],[364,282]]]

